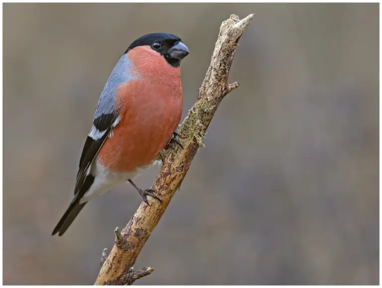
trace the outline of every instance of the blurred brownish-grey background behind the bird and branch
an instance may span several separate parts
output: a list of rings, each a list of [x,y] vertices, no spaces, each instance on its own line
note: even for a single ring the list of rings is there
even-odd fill
[[[184,117],[221,22],[252,12],[230,73],[240,88],[134,266],[155,272],[135,285],[378,285],[378,3],[3,4],[3,284],[93,285],[140,204],[121,185],[51,236],[129,44],[184,40]]]

